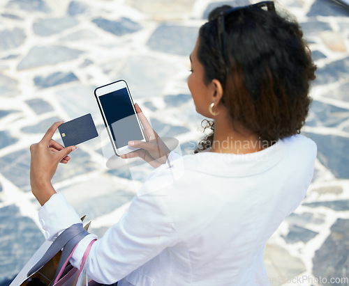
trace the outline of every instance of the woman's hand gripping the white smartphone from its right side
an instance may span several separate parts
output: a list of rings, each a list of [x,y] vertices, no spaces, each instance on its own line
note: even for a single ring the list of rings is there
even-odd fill
[[[140,157],[144,161],[147,161],[150,166],[158,168],[158,166],[166,163],[171,150],[168,148],[168,146],[165,145],[158,134],[156,134],[147,118],[145,118],[144,114],[142,113],[142,109],[140,109],[140,106],[138,106],[138,104],[135,104],[135,110],[138,113],[140,122],[142,122],[145,136],[147,136],[147,142],[129,141],[129,146],[140,149],[128,154],[121,155],[121,158],[129,159]]]

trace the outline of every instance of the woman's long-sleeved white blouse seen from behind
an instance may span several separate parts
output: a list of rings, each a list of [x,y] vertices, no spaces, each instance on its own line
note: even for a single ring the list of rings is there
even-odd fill
[[[202,152],[154,170],[92,246],[89,277],[123,285],[269,285],[267,239],[302,202],[316,145],[302,135],[250,154]],[[62,194],[39,211],[47,239],[80,222]],[[80,267],[94,235],[70,262]]]

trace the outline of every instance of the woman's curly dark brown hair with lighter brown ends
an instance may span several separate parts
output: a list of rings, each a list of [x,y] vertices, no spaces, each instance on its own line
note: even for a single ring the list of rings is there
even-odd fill
[[[205,70],[205,84],[218,79],[223,86],[222,103],[232,122],[241,123],[261,141],[272,145],[299,134],[309,111],[309,88],[316,66],[297,21],[262,8],[244,8],[225,16],[230,69],[218,41],[216,16],[231,8],[211,11],[199,32],[198,59]],[[195,152],[211,146],[212,129]]]

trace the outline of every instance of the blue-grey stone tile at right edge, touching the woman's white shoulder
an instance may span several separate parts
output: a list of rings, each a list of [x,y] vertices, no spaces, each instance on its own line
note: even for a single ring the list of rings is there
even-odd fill
[[[318,159],[337,178],[349,178],[349,138],[335,135],[322,135],[302,132],[318,145]]]

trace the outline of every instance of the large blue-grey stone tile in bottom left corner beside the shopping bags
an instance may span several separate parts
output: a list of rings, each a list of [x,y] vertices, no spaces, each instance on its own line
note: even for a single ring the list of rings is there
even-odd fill
[[[15,205],[0,209],[0,283],[13,278],[45,241],[38,227]]]

